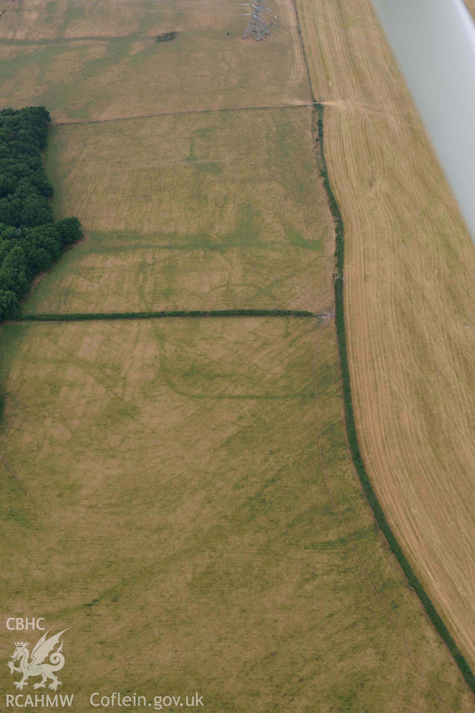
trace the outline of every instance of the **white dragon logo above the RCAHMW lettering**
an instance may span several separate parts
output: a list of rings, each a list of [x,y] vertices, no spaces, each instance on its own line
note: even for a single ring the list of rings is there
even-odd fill
[[[16,648],[11,655],[13,661],[9,661],[7,666],[10,669],[10,673],[19,671],[23,674],[21,681],[14,681],[14,686],[20,690],[23,689],[24,686],[28,686],[28,678],[30,676],[43,677],[39,683],[33,684],[33,688],[44,688],[48,678],[51,678],[52,680],[52,683],[49,684],[49,688],[53,689],[53,691],[56,691],[58,686],[61,686],[61,681],[58,681],[55,672],[61,670],[64,666],[64,656],[61,653],[61,650],[63,649],[63,642],[61,641],[61,646],[58,647],[56,651],[54,651],[54,647],[58,644],[61,635],[68,630],[63,629],[63,631],[60,631],[59,634],[46,639],[49,631],[50,630],[48,630],[46,634],[43,634],[41,639],[36,643],[33,651],[31,652],[31,661],[29,660],[30,652],[28,651],[28,642],[15,642]],[[48,656],[50,663],[43,663]],[[20,660],[19,668],[14,666],[14,661],[17,660]]]

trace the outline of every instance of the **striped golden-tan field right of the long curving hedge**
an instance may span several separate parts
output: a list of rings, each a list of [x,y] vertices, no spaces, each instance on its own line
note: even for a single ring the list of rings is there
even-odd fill
[[[358,434],[404,552],[475,665],[475,248],[367,0],[299,0],[345,222]],[[447,130],[450,130],[449,118]]]

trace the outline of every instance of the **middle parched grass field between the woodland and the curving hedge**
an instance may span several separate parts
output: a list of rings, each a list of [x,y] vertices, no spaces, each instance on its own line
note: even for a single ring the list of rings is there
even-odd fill
[[[25,311],[328,307],[333,225],[310,111],[56,127],[53,206],[78,215],[88,240]]]

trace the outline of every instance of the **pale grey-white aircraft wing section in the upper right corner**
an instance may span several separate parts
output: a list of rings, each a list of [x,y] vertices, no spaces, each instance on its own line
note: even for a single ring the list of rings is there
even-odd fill
[[[475,26],[462,0],[372,0],[475,242]]]

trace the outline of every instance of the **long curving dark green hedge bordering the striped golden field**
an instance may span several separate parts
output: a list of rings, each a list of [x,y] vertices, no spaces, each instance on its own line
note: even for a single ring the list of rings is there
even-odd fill
[[[341,378],[343,382],[343,401],[345,402],[345,424],[346,431],[348,434],[348,441],[350,443],[351,456],[353,458],[353,463],[356,468],[358,477],[363,490],[365,491],[365,496],[367,501],[370,503],[373,515],[375,515],[375,520],[378,527],[382,531],[383,535],[387,540],[387,544],[395,555],[395,558],[400,563],[402,571],[409,583],[409,586],[414,589],[414,592],[419,597],[422,602],[422,606],[427,612],[429,619],[434,625],[435,629],[442,637],[445,645],[454,657],[456,665],[459,667],[462,676],[464,677],[466,684],[469,686],[472,692],[475,693],[475,676],[472,672],[469,664],[466,662],[465,657],[461,654],[459,647],[457,647],[453,638],[449,634],[446,625],[442,621],[441,617],[437,613],[436,608],[432,604],[427,594],[424,591],[422,584],[417,579],[411,565],[407,561],[400,545],[397,543],[394,533],[392,532],[390,525],[387,523],[385,513],[382,511],[379,501],[377,500],[375,491],[370,483],[370,478],[368,478],[365,465],[362,460],[360,446],[358,444],[358,439],[356,435],[355,427],[355,416],[353,414],[353,402],[351,399],[350,390],[350,370],[348,369],[348,352],[346,346],[346,333],[345,333],[345,312],[343,303],[343,220],[340,213],[340,208],[335,200],[333,191],[330,187],[330,181],[328,180],[328,170],[325,162],[325,155],[323,153],[323,106],[316,106],[314,111],[313,119],[313,130],[315,140],[318,142],[318,154],[320,158],[320,174],[323,178],[323,185],[328,197],[328,203],[330,205],[330,211],[335,220],[335,322],[338,337],[338,350],[340,353],[340,369]],[[317,118],[317,127],[315,131],[315,118]]]

